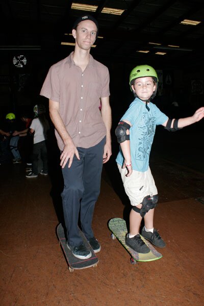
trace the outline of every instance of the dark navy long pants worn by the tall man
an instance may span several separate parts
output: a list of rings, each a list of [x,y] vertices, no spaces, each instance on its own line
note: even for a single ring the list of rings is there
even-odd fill
[[[62,203],[67,240],[71,246],[79,246],[82,238],[79,234],[78,220],[86,238],[92,238],[91,227],[95,202],[100,192],[101,171],[106,138],[90,148],[78,147],[80,160],[73,158],[71,167],[68,163],[62,169],[64,190]]]

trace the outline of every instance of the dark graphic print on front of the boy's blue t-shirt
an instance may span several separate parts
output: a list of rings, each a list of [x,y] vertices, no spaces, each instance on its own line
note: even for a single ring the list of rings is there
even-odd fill
[[[138,126],[138,145],[135,151],[136,160],[143,161],[149,157],[151,145],[155,136],[156,117],[143,113]]]

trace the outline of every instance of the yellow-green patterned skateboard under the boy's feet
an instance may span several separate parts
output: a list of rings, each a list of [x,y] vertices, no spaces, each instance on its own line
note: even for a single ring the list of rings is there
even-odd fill
[[[162,254],[159,253],[147,240],[142,236],[142,240],[149,247],[150,251],[146,254],[138,253],[125,244],[125,235],[127,234],[127,227],[125,220],[121,218],[113,218],[108,223],[109,230],[112,232],[111,238],[118,239],[122,246],[131,254],[131,263],[137,262],[149,262],[162,258]]]

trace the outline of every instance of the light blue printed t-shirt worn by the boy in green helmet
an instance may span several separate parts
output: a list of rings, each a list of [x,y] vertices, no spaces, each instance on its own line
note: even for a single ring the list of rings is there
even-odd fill
[[[155,136],[156,125],[163,124],[168,117],[162,113],[158,107],[148,104],[149,111],[145,103],[139,98],[131,103],[129,109],[120,120],[131,122],[130,147],[133,170],[145,172],[149,166],[149,154]],[[124,157],[122,151],[118,153],[116,162],[122,166]]]

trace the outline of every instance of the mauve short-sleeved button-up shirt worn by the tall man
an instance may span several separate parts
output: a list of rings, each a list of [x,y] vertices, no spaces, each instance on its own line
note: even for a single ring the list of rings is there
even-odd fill
[[[89,148],[106,136],[100,98],[108,97],[109,71],[89,55],[84,71],[72,60],[73,52],[49,68],[40,95],[59,103],[59,113],[75,146]],[[58,146],[64,143],[55,130]]]

